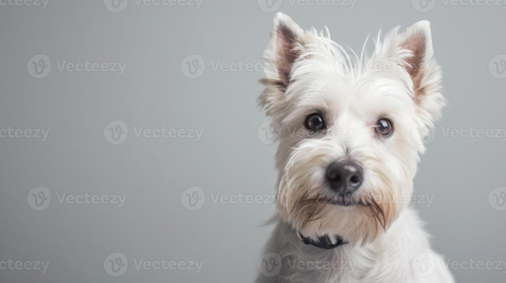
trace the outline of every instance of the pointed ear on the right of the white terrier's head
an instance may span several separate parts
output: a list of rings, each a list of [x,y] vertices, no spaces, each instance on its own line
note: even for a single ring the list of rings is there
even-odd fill
[[[440,93],[441,70],[434,57],[429,21],[419,21],[400,35],[400,48],[410,54],[404,59],[413,82],[418,112],[431,122],[439,119],[445,100]]]

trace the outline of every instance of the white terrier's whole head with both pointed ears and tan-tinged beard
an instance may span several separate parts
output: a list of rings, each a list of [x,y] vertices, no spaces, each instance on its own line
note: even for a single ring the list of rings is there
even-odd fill
[[[365,244],[409,203],[444,99],[429,23],[398,30],[351,63],[328,36],[274,19],[259,101],[279,145],[277,207],[306,237]]]

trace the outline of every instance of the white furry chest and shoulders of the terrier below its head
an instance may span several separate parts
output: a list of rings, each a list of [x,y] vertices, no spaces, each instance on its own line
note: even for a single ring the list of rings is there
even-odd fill
[[[431,252],[438,265],[431,276],[413,273],[412,260],[423,252]],[[280,219],[265,253],[281,258],[281,271],[276,276],[260,275],[256,283],[451,283],[443,270],[442,258],[430,247],[428,234],[415,211],[406,209],[396,223],[378,239],[363,247],[349,244],[324,250],[305,245],[291,227]]]

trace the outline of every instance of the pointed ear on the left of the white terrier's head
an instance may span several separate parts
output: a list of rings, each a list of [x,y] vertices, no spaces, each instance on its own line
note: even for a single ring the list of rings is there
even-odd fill
[[[269,79],[285,88],[290,81],[293,63],[302,55],[305,44],[305,34],[299,25],[283,13],[274,17],[271,39],[264,57],[273,72]]]

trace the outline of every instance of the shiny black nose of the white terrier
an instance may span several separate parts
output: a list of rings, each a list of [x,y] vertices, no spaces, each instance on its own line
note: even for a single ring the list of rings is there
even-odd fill
[[[354,191],[362,184],[363,170],[356,162],[337,161],[328,166],[326,177],[335,192],[340,192],[343,188],[346,188],[347,192]]]

